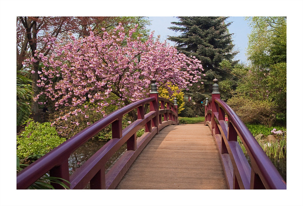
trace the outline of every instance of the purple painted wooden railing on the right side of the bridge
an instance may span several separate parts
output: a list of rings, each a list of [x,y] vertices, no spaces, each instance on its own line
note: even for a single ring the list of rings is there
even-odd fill
[[[271,160],[238,115],[222,100],[214,80],[211,101],[205,103],[205,125],[211,128],[230,189],[286,189]],[[228,123],[225,122],[225,114]],[[238,141],[240,137],[251,160],[249,165]]]

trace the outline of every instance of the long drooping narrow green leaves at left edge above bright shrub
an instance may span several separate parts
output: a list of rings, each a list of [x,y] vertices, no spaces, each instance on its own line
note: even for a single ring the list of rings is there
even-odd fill
[[[28,71],[17,70],[17,126],[22,125],[31,114],[33,91]]]

